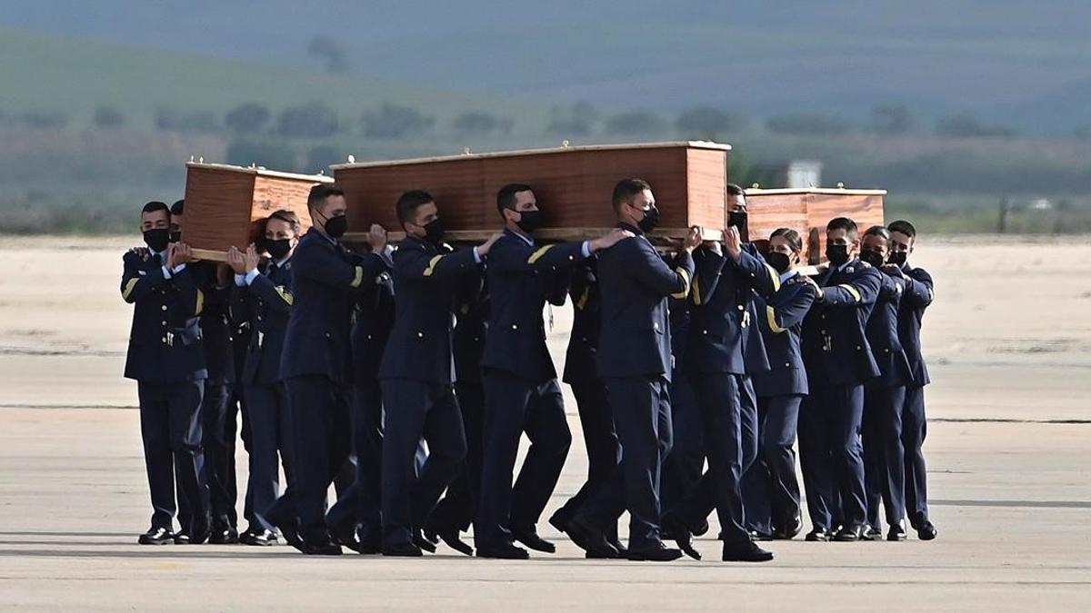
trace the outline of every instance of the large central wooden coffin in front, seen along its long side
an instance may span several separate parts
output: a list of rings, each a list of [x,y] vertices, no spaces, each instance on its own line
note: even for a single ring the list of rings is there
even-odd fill
[[[660,208],[657,233],[681,238],[690,226],[723,227],[730,145],[707,142],[597,145],[467,154],[333,166],[349,207],[348,240],[371,224],[400,238],[394,205],[408,190],[425,190],[440,207],[451,240],[483,240],[503,224],[496,192],[530,185],[542,209],[542,239],[598,235],[615,224],[614,184],[637,177],[651,184]]]

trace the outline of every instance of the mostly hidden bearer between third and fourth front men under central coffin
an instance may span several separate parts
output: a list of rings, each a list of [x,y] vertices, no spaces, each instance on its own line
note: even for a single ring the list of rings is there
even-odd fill
[[[602,296],[597,269],[596,255],[585,260],[573,272],[568,290],[573,306],[572,335],[565,352],[562,381],[568,384],[576,398],[584,446],[587,448],[587,480],[550,517],[549,522],[561,532],[568,531],[568,522],[586,501],[610,482],[621,461],[621,443],[618,442],[610,413],[610,400],[599,377],[597,353],[602,328]],[[607,526],[606,537],[619,553],[625,551],[618,539],[616,521]]]

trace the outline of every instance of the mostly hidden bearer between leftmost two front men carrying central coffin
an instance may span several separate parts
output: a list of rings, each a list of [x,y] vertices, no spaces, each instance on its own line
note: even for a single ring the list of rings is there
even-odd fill
[[[394,325],[394,280],[389,245],[377,253],[387,271],[357,297],[352,313],[352,483],[329,508],[326,521],[334,540],[358,553],[382,550],[380,522],[380,466],[383,456],[383,394],[379,364]],[[336,485],[336,483],[335,483]]]

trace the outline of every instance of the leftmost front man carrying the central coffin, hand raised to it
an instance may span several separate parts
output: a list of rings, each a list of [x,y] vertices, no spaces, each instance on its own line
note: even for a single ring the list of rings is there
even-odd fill
[[[352,303],[361,288],[386,271],[386,264],[375,253],[361,257],[340,244],[348,218],[339,188],[311,188],[307,207],[313,225],[292,255],[292,305],[280,356],[295,435],[293,480],[266,512],[266,519],[303,553],[337,555],[340,545],[332,541],[325,521],[326,492],[351,452]],[[382,251],[385,241],[385,230],[372,226],[372,247]],[[300,527],[298,539],[289,536],[293,517]]]

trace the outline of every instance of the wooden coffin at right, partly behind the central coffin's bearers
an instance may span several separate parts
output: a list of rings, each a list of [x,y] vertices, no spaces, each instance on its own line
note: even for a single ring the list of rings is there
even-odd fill
[[[777,228],[792,228],[803,238],[810,264],[826,259],[826,224],[834,217],[849,217],[864,232],[884,224],[885,190],[777,189],[746,190],[750,239],[768,241]]]

